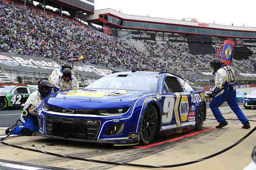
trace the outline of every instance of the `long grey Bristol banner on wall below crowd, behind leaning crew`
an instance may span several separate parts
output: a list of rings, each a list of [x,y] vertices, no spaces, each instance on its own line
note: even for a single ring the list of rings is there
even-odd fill
[[[63,63],[67,61],[62,60]],[[0,52],[0,68],[8,71],[29,71],[35,73],[52,73],[61,65],[51,58],[20,55],[15,53]],[[86,77],[99,78],[112,73],[112,70],[102,65],[91,63],[74,63],[74,69]],[[122,68],[113,68],[118,71],[125,71]],[[129,70],[127,70],[129,71]]]

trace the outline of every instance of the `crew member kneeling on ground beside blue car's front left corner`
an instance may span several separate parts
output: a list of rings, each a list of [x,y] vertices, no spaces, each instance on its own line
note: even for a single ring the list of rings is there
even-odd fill
[[[53,91],[53,85],[49,81],[42,80],[38,85],[38,90],[34,91],[28,97],[25,106],[22,106],[21,121],[24,126],[19,127],[16,125],[7,128],[5,134],[9,134],[12,129],[12,134],[15,135],[27,135],[31,136],[33,132],[38,131],[38,119],[37,119],[37,108],[42,103],[44,98],[51,94]]]

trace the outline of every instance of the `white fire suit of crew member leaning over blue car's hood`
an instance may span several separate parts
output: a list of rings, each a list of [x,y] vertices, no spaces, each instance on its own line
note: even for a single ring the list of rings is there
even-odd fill
[[[64,80],[63,75],[59,76],[59,78],[55,79],[54,83],[54,91],[59,90],[78,90],[79,89],[79,82],[78,80],[71,75],[71,78],[68,82]]]

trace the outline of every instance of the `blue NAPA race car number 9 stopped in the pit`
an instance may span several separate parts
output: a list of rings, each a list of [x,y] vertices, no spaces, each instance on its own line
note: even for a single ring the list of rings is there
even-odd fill
[[[40,136],[114,146],[202,129],[203,91],[166,72],[117,72],[85,89],[59,91],[38,107]]]

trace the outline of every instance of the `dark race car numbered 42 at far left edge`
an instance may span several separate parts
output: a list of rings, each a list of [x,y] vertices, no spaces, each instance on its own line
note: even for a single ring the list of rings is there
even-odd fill
[[[10,106],[21,106],[27,101],[28,96],[36,90],[27,86],[0,86],[0,110]]]

